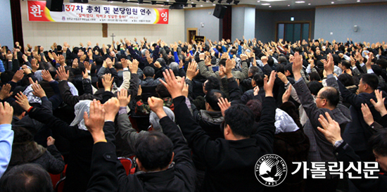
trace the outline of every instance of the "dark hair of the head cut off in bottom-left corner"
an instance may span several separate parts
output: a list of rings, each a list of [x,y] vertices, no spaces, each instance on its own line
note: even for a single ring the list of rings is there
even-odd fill
[[[13,167],[1,177],[0,188],[4,192],[53,191],[49,173],[35,163]]]

